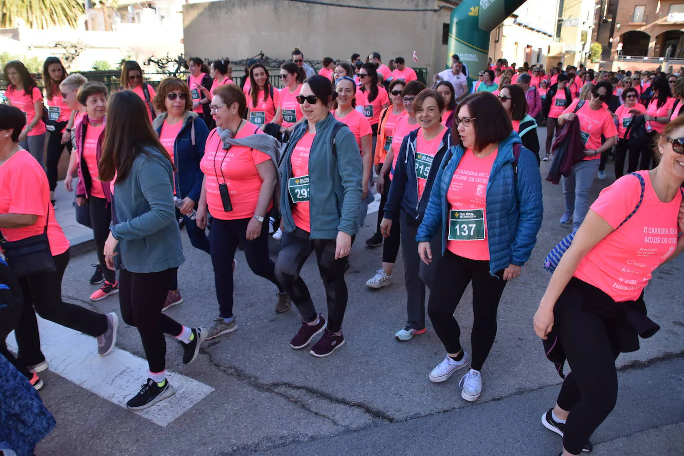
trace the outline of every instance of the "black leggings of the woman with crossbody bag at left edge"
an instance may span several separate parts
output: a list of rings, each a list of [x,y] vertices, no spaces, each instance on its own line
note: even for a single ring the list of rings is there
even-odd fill
[[[107,317],[104,314],[62,301],[62,277],[69,263],[69,251],[53,258],[57,271],[18,278],[24,295],[24,306],[14,335],[19,347],[18,358],[25,366],[39,364],[45,360],[40,351],[36,313],[57,325],[93,337],[101,336],[107,330]],[[64,349],[68,350],[68,347]]]

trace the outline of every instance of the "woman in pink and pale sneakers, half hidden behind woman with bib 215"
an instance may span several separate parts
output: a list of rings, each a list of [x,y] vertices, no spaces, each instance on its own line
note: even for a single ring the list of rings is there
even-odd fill
[[[388,196],[392,184],[394,168],[397,165],[397,159],[399,158],[399,149],[402,147],[404,137],[418,129],[420,126],[416,119],[413,102],[423,89],[425,89],[425,85],[421,81],[411,81],[410,83],[407,83],[402,90],[401,97],[406,114],[395,121],[396,123],[393,127],[389,150],[387,150],[382,169],[378,174],[378,191]],[[393,90],[393,92],[395,91],[396,89]],[[392,220],[391,230],[389,230],[388,233],[383,233],[382,230],[380,230],[380,234],[384,238],[384,241],[382,242],[382,267],[376,271],[376,274],[373,277],[366,281],[366,286],[369,288],[381,289],[383,286],[388,286],[392,283],[394,264],[397,261],[399,245],[401,243],[399,213],[395,213],[395,215],[395,218]]]

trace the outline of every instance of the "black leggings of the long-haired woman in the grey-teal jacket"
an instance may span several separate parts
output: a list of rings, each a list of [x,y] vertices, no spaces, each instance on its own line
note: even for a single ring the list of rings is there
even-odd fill
[[[179,336],[183,326],[161,313],[169,286],[177,267],[161,272],[137,273],[119,271],[119,305],[121,317],[127,325],[137,327],[145,350],[150,372],[166,368],[166,340],[164,334]]]

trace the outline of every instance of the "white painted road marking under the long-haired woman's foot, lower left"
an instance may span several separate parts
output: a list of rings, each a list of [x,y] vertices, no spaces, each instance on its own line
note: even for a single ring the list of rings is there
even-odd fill
[[[147,378],[147,361],[128,351],[115,348],[107,356],[98,356],[94,337],[40,317],[38,327],[50,370],[107,401],[125,408],[126,401]],[[16,351],[13,334],[8,337],[8,347]],[[170,424],[214,390],[179,373],[167,371],[167,375],[176,394],[148,409],[133,412],[159,426]]]

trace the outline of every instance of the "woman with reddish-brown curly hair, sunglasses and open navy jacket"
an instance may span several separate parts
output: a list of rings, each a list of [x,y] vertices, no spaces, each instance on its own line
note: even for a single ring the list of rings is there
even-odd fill
[[[197,113],[192,111],[192,96],[184,81],[168,77],[159,83],[158,89],[154,102],[160,114],[153,122],[152,128],[175,167],[174,202],[183,215],[185,232],[192,246],[209,253],[209,238],[205,230],[200,230],[192,218],[202,191],[204,174],[200,170],[200,161],[205,155],[209,129]],[[181,302],[183,297],[178,286],[176,269],[162,310]]]

